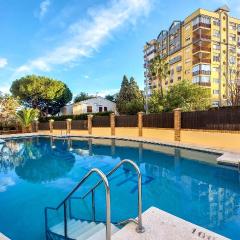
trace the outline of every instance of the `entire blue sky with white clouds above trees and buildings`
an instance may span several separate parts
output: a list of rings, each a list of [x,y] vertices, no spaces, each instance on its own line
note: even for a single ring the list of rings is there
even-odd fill
[[[0,91],[27,74],[64,81],[74,94],[116,92],[123,74],[143,88],[143,46],[199,7],[239,0],[0,0]]]

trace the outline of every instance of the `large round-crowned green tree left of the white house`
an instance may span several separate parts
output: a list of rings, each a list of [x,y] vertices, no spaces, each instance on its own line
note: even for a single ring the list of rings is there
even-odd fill
[[[11,93],[27,108],[38,109],[41,115],[55,115],[72,100],[70,89],[61,81],[28,75],[12,83]]]

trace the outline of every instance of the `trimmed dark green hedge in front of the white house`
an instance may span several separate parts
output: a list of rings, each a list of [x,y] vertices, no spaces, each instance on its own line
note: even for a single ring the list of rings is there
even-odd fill
[[[99,113],[92,113],[93,116],[109,116],[112,112],[99,112]],[[52,116],[52,117],[44,117],[40,118],[40,122],[48,122],[50,119],[53,119],[54,121],[64,121],[66,119],[72,119],[72,120],[87,120],[87,116],[90,113],[84,113],[80,115],[65,115],[65,116]]]

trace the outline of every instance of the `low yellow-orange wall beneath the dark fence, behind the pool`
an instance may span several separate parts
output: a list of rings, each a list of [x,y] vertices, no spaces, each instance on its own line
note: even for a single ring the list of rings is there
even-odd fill
[[[39,131],[49,134],[49,131]],[[53,134],[65,134],[66,131],[53,130]],[[174,141],[174,129],[165,128],[143,128],[142,137],[138,136],[138,128],[116,127],[115,136],[124,138],[144,138],[147,140],[158,140],[167,143],[180,143],[204,148],[212,148],[224,151],[240,152],[239,132],[218,132],[206,130],[181,130],[181,140]],[[71,130],[71,135],[88,136],[87,130]],[[92,128],[94,136],[111,136],[111,128]]]

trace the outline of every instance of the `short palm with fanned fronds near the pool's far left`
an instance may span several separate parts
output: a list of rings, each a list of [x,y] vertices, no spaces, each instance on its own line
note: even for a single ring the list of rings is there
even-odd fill
[[[22,127],[23,132],[30,131],[32,129],[32,123],[39,115],[38,110],[33,108],[25,108],[16,113],[18,121]]]

